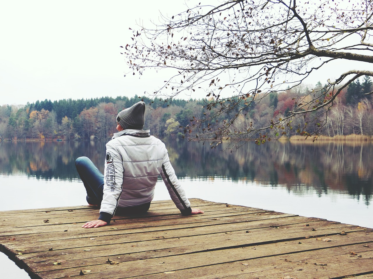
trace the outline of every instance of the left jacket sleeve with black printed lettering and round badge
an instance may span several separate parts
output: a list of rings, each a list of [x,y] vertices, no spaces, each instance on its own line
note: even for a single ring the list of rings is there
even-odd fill
[[[122,156],[114,145],[106,144],[106,160],[104,168],[103,199],[98,219],[110,223],[118,206],[118,200],[122,193],[123,163]]]

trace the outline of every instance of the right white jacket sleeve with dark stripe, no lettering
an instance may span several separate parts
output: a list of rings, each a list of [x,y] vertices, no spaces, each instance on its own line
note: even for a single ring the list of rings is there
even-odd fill
[[[180,210],[182,215],[189,215],[192,212],[190,207],[190,202],[186,198],[185,191],[181,186],[178,178],[176,177],[175,171],[170,163],[168,157],[168,152],[166,147],[164,147],[164,157],[162,164],[161,177],[164,184],[167,187],[167,190],[170,194],[172,201],[175,203],[176,207]]]

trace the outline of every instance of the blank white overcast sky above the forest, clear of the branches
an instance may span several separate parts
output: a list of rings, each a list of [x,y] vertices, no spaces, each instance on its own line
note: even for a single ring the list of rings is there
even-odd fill
[[[0,106],[153,92],[163,84],[160,74],[123,77],[128,68],[119,46],[132,42],[128,28],[140,20],[157,22],[161,12],[176,15],[187,9],[185,3],[193,7],[199,1],[2,1]],[[330,70],[319,71],[309,82],[325,84],[329,77]]]

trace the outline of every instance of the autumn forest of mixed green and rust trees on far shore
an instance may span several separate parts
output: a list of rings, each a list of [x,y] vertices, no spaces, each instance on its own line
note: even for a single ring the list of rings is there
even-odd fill
[[[258,98],[245,108],[234,122],[235,129],[251,126],[266,126],[272,119],[283,118],[291,111],[295,98],[307,95],[312,90],[322,88],[319,82],[313,89],[305,86],[288,89],[279,93],[269,93]],[[335,135],[373,135],[372,81],[369,76],[351,83],[347,90],[336,98],[327,115],[322,134]],[[264,94],[264,93],[263,93]],[[101,97],[95,99],[62,99],[27,103],[24,106],[3,105],[0,107],[1,140],[107,140],[116,132],[116,115],[125,108],[143,99],[150,104],[145,110],[144,129],[160,139],[183,138],[184,128],[204,118],[209,111],[206,106],[212,99],[162,99],[134,96]],[[206,113],[206,114],[204,114]],[[231,111],[229,113],[236,113]],[[219,116],[214,121],[224,121]],[[309,116],[309,117],[312,117]],[[307,119],[298,118],[294,127],[303,127]],[[212,121],[211,121],[212,122]],[[207,123],[206,123],[207,125]],[[286,136],[297,134],[297,129],[289,130]],[[312,132],[312,131],[310,131]]]

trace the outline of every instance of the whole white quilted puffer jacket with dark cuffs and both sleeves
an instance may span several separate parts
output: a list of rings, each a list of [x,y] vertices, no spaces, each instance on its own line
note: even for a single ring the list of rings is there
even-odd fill
[[[190,202],[171,166],[164,143],[151,136],[149,130],[126,129],[115,133],[106,144],[99,219],[109,223],[117,206],[151,202],[159,175],[176,207],[182,214],[190,214]]]

